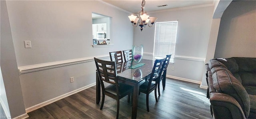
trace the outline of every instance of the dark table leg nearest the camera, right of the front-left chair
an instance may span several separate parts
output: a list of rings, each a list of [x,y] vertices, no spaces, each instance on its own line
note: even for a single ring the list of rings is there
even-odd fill
[[[140,85],[134,85],[133,99],[132,99],[132,119],[136,119],[138,110],[138,95],[140,91]]]

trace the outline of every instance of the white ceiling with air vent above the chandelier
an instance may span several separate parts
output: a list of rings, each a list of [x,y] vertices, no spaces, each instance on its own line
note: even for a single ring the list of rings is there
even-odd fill
[[[102,0],[108,4],[112,4],[118,8],[122,8],[131,13],[137,13],[141,10],[142,0]],[[205,4],[213,4],[214,0],[145,0],[146,12],[154,12],[158,10],[167,10],[173,8],[182,8],[189,6],[199,6]],[[158,5],[164,5],[164,7],[157,7]]]

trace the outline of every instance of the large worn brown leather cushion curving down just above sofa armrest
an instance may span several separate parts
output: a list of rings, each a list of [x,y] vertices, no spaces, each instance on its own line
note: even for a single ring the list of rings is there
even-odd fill
[[[240,81],[225,68],[224,70],[213,73],[212,80],[216,92],[225,93],[234,97],[241,105],[244,115],[247,118],[250,111],[250,98]]]

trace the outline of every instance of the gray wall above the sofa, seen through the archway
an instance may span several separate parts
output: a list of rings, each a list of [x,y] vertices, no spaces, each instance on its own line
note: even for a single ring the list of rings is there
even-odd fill
[[[214,58],[256,58],[256,1],[231,2],[221,21]]]

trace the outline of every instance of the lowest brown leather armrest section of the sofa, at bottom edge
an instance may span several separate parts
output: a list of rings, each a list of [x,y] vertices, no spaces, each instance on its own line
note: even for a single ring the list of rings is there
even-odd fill
[[[246,119],[239,103],[224,93],[210,93],[210,103],[215,119]]]

